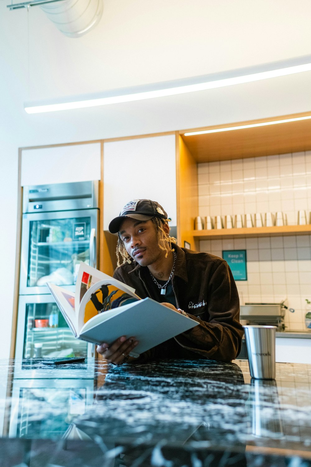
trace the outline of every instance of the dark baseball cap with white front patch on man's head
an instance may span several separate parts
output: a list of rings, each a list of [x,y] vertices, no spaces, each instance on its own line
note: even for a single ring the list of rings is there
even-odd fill
[[[117,233],[121,223],[127,217],[138,220],[149,220],[152,217],[167,219],[167,214],[157,201],[152,201],[151,199],[132,199],[126,203],[118,217],[111,220],[108,227],[109,232]]]

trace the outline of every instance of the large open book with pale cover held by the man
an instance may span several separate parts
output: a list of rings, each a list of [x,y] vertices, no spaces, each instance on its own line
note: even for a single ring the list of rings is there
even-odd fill
[[[198,325],[194,319],[151,298],[140,299],[135,289],[83,262],[75,293],[52,283],[47,285],[78,339],[110,345],[120,336],[134,336],[138,345],[132,356]]]

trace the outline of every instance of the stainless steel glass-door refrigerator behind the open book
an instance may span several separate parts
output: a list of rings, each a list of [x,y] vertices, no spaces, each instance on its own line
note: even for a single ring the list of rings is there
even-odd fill
[[[15,357],[91,356],[71,333],[47,282],[75,290],[80,262],[97,267],[98,181],[23,188]]]

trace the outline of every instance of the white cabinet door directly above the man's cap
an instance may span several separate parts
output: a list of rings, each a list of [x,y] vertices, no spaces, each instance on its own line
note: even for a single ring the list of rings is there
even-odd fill
[[[175,135],[104,143],[104,230],[131,199],[152,199],[177,225]]]

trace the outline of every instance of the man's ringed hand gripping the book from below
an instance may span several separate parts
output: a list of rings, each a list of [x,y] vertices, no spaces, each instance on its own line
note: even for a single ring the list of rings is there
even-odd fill
[[[126,339],[125,336],[119,337],[117,340],[109,346],[106,342],[97,346],[98,354],[103,355],[105,360],[111,361],[115,365],[125,363],[125,361],[135,360],[134,357],[130,357],[129,354],[138,344],[138,340],[135,337]]]

